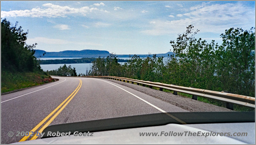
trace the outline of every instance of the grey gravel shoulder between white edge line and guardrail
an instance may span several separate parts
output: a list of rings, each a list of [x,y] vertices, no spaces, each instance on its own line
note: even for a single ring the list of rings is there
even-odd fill
[[[124,85],[126,87],[132,88],[134,90],[145,93],[154,98],[158,98],[162,101],[168,102],[172,105],[178,106],[182,109],[185,109],[189,112],[229,112],[233,111],[224,107],[219,107],[216,105],[200,102],[197,100],[193,100],[191,98],[186,98],[179,95],[173,95],[172,93],[167,93],[164,91],[150,89],[148,87],[143,87],[137,84],[125,83],[117,80],[104,79],[114,83],[118,83]]]

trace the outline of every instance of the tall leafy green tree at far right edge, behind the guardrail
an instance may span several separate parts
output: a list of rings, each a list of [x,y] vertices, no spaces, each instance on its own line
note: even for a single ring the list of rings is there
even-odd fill
[[[255,95],[255,28],[230,28],[222,33],[217,50],[217,74],[224,90]]]

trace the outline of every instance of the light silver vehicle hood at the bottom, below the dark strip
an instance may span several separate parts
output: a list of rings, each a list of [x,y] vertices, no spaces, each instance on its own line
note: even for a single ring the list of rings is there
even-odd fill
[[[161,132],[220,133],[247,132],[247,136],[164,136]],[[157,136],[140,136],[140,133],[158,133]],[[167,124],[94,132],[93,136],[60,136],[14,144],[255,144],[255,123]]]

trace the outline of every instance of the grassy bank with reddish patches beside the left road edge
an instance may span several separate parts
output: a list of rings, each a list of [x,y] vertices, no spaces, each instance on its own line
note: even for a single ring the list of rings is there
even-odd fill
[[[36,86],[53,81],[44,72],[1,71],[1,93]]]

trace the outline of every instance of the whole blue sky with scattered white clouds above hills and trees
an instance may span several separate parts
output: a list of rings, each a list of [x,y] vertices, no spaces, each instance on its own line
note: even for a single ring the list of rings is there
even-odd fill
[[[1,1],[1,18],[18,21],[27,44],[47,52],[159,54],[188,25],[218,44],[226,29],[255,27],[255,1]]]

